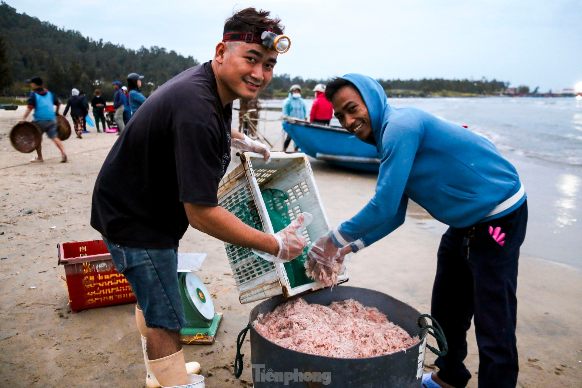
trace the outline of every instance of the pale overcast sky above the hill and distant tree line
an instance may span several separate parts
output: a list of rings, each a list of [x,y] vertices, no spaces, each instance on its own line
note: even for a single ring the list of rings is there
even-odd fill
[[[286,26],[276,74],[473,78],[540,91],[582,81],[582,0],[7,0],[65,29],[137,49],[212,59],[233,9],[271,10]]]

